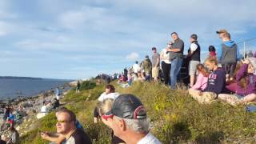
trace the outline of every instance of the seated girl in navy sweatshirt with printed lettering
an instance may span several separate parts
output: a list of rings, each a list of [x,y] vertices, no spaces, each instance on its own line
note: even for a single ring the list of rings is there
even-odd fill
[[[208,76],[207,86],[204,90],[197,90],[194,93],[190,93],[192,98],[198,100],[200,103],[210,103],[218,94],[225,93],[226,86],[226,74],[225,70],[218,68],[218,62],[216,58],[207,58],[205,65],[210,70]]]

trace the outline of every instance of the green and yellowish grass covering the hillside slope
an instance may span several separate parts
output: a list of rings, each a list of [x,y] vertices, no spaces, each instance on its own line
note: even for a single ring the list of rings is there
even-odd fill
[[[103,91],[104,86],[82,90],[79,94],[70,90],[62,100],[77,114],[94,143],[110,143],[110,130],[102,123],[93,123],[94,106]],[[162,143],[255,142],[256,114],[246,113],[243,106],[218,101],[200,105],[186,90],[170,90],[153,82],[136,82],[126,89],[116,86],[116,91],[141,98],[152,123],[151,132]],[[49,114],[39,121],[39,129],[54,131],[54,124],[54,114]],[[39,138],[37,130],[26,134],[22,140],[23,143],[47,143]]]

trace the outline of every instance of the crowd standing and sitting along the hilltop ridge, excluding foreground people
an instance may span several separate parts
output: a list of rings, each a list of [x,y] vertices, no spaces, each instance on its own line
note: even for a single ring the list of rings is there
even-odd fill
[[[171,34],[172,41],[167,42],[166,48],[160,54],[156,47],[152,47],[152,58],[146,55],[145,59],[134,65],[120,75],[118,83],[125,82],[122,86],[130,86],[134,81],[161,81],[177,89],[183,61],[188,61],[187,74],[189,75],[188,91],[199,102],[212,102],[221,99],[232,105],[256,100],[254,80],[256,51],[250,50],[246,57],[240,54],[238,45],[231,40],[227,30],[216,31],[222,43],[215,48],[209,46],[209,54],[205,62],[201,61],[201,46],[198,35],[191,34],[190,48],[184,54],[184,42],[176,32]],[[251,69],[251,72],[247,70]],[[250,89],[248,90],[248,87]],[[236,95],[237,97],[233,97]]]

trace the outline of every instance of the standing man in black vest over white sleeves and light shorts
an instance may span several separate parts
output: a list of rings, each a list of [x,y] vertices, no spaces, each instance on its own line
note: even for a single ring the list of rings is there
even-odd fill
[[[190,74],[190,87],[194,86],[195,74],[198,64],[200,64],[200,52],[201,48],[198,44],[198,35],[192,34],[190,36],[190,49],[188,57],[190,57],[189,74]]]

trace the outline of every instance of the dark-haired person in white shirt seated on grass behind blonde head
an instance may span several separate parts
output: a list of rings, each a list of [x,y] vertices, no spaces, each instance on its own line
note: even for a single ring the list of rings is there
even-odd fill
[[[115,88],[113,85],[106,85],[106,89],[105,92],[102,93],[99,98],[98,101],[99,102],[103,102],[106,98],[118,98],[119,94],[115,93]],[[94,109],[94,123],[98,122],[98,118],[99,118],[99,114],[98,114],[98,110],[97,108]]]

